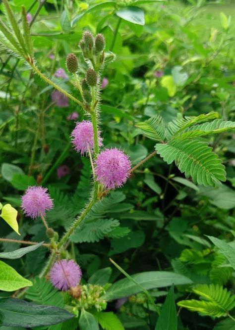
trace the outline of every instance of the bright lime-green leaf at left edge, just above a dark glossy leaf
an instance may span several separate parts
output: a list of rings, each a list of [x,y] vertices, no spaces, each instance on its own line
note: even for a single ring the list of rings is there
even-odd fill
[[[24,279],[14,268],[0,261],[0,290],[15,291],[31,285],[33,285],[31,281]]]

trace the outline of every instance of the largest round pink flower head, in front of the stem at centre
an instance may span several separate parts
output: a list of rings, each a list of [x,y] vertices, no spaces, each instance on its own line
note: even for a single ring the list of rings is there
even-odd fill
[[[130,175],[130,168],[129,157],[117,148],[105,149],[97,157],[97,179],[108,189],[122,186]]]

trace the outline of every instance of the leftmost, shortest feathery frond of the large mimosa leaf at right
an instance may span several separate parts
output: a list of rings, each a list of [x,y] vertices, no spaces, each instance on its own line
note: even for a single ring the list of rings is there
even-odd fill
[[[141,131],[141,133],[149,139],[155,141],[165,140],[166,127],[163,122],[162,116],[154,116],[142,123],[135,125]]]

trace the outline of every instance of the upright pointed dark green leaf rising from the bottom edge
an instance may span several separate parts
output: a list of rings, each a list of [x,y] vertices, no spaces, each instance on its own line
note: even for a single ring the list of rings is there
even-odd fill
[[[177,314],[174,285],[171,286],[161,309],[155,330],[177,330]]]

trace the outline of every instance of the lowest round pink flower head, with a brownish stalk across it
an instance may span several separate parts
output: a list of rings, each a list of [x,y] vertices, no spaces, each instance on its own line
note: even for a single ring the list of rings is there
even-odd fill
[[[51,269],[50,280],[59,290],[66,291],[81,281],[82,272],[73,260],[58,260]]]

